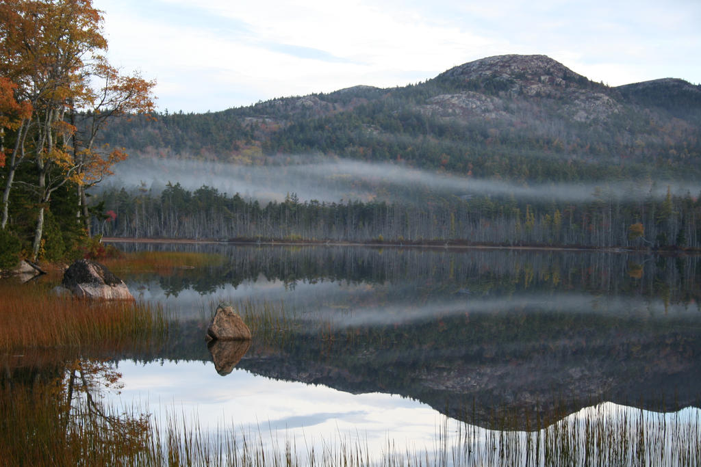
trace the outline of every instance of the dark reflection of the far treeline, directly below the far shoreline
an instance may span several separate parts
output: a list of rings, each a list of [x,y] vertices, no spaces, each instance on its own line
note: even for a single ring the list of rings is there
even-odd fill
[[[217,253],[219,267],[160,277],[165,293],[191,288],[214,293],[245,281],[281,281],[287,288],[315,284],[390,284],[437,293],[484,295],[572,291],[644,295],[667,302],[701,300],[701,258],[606,251],[401,249],[344,246],[232,246],[118,244],[121,249]],[[420,288],[420,289],[419,289]]]

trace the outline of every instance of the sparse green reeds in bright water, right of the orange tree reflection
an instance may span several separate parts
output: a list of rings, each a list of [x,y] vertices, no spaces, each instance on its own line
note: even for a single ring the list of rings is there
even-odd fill
[[[150,439],[148,465],[697,466],[698,414],[644,412],[602,403],[536,431],[488,430],[445,417],[433,445],[411,447],[388,438],[379,452],[372,452],[362,435],[329,433],[328,438],[313,440],[289,435],[280,439],[261,428],[205,432],[196,422],[188,424],[169,414]]]

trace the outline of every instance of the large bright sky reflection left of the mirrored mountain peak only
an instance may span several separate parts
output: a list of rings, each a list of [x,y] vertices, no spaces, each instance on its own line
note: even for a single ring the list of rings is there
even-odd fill
[[[168,414],[197,420],[207,431],[225,424],[243,433],[264,433],[264,442],[280,437],[306,440],[367,440],[379,452],[390,438],[417,449],[432,449],[442,414],[426,404],[383,393],[351,394],[322,385],[285,382],[234,369],[219,376],[210,362],[121,361],[125,384],[111,394],[124,405],[135,403],[165,426]],[[272,433],[272,434],[271,434]]]

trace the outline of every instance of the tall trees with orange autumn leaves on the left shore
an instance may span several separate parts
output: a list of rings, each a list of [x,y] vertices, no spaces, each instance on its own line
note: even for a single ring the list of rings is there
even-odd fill
[[[100,129],[114,116],[154,109],[155,83],[119,74],[104,57],[102,21],[91,0],[0,4],[1,228],[8,226],[11,190],[22,190],[34,200],[23,213],[34,217],[34,259],[53,193],[76,190],[74,222],[86,228],[86,188],[126,157],[121,148],[96,144]]]

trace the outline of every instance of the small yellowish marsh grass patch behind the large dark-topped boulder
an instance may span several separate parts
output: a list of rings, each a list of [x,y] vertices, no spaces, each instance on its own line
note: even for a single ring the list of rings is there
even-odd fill
[[[173,274],[179,270],[196,267],[220,266],[224,260],[224,256],[213,253],[139,251],[137,253],[123,253],[117,258],[104,258],[102,264],[117,275],[142,272]]]

